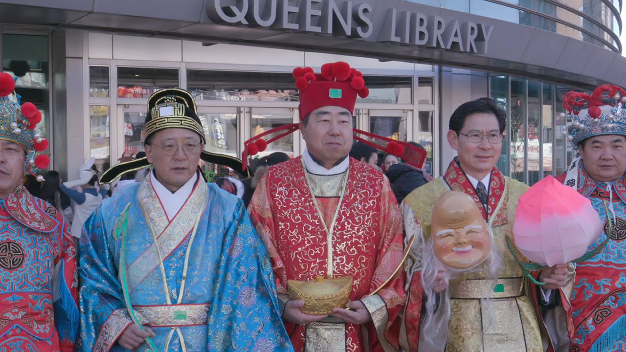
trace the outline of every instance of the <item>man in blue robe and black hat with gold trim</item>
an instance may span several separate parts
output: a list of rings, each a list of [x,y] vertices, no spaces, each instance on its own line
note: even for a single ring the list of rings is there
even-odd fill
[[[187,91],[150,97],[150,175],[83,228],[81,351],[292,351],[243,202],[198,170],[195,111]]]

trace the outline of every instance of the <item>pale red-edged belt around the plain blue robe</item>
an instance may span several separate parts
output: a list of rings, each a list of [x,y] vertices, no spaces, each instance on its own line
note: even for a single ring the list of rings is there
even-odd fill
[[[209,304],[172,304],[169,306],[133,306],[152,326],[205,325]]]

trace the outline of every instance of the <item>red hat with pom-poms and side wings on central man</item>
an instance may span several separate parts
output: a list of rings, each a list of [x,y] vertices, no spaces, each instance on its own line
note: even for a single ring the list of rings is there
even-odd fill
[[[317,74],[310,67],[297,67],[294,68],[293,75],[295,87],[300,91],[300,122],[304,121],[311,111],[323,106],[340,106],[354,113],[357,95],[361,98],[367,98],[369,95],[361,71],[351,68],[343,61],[324,64]],[[290,123],[272,128],[245,141],[242,155],[244,170],[247,168],[250,155],[264,151],[269,143],[294,133],[298,128],[297,123]],[[421,168],[424,165],[426,152],[409,143],[357,129],[353,129],[352,133],[355,140],[396,155],[415,167]],[[267,136],[270,138],[265,140],[264,137]]]

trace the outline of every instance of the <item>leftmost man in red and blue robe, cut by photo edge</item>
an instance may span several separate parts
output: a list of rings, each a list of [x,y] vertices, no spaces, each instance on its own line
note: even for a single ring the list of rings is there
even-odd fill
[[[63,214],[33,197],[24,174],[48,167],[41,113],[20,106],[0,73],[0,351],[72,352],[78,338],[76,248]],[[37,177],[41,181],[41,176]]]

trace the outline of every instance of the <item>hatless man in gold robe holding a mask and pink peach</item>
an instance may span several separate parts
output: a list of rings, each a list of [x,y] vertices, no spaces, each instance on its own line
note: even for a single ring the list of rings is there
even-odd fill
[[[528,284],[520,265],[527,260],[515,250],[512,235],[517,201],[528,186],[495,167],[505,124],[505,113],[489,98],[459,106],[451,116],[447,135],[458,157],[443,177],[414,190],[401,205],[406,238],[416,237],[406,264],[408,302],[400,339],[406,351],[567,351],[568,331],[572,331],[567,323],[570,267],[563,264],[541,271],[538,278],[546,283],[541,288]],[[444,267],[424,271],[425,266],[433,265],[423,261],[421,254],[429,250],[426,243],[431,237],[433,205],[449,190],[471,195],[480,209],[493,236],[492,250],[502,262],[496,268],[495,280],[489,274],[494,269],[489,261],[481,264],[483,270],[479,266],[449,282]],[[459,251],[468,247],[459,245]],[[423,287],[425,272],[435,273],[430,287]],[[423,334],[426,324],[421,312],[427,301],[440,299],[449,299],[449,318],[441,323],[438,333],[444,338],[437,343],[436,336]],[[540,319],[540,311],[549,317]]]

